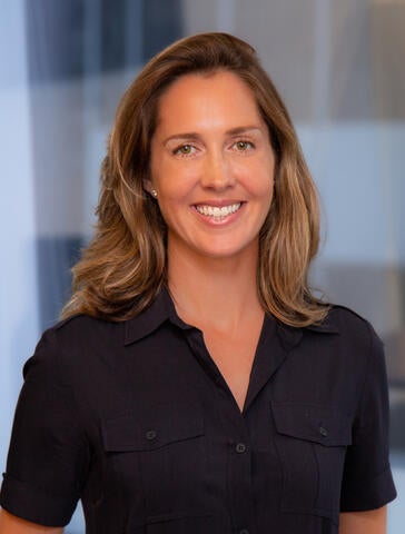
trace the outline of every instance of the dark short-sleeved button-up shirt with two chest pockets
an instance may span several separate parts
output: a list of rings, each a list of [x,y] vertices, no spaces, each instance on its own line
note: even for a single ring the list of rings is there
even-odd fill
[[[240,413],[165,290],[125,323],[76,316],[24,367],[0,504],[88,534],[328,534],[393,500],[382,344],[334,307],[266,316]]]

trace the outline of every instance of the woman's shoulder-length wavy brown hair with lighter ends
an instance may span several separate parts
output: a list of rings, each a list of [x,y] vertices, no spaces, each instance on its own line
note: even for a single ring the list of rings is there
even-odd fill
[[[307,274],[319,241],[317,195],[288,111],[256,51],[227,33],[181,39],[140,71],[124,95],[101,168],[95,237],[73,267],[62,317],[83,313],[125,320],[147,308],[166,283],[167,228],[144,190],[161,95],[179,77],[229,71],[251,90],[276,156],[274,197],[259,235],[257,287],[265,309],[306,326],[328,307],[312,295]]]

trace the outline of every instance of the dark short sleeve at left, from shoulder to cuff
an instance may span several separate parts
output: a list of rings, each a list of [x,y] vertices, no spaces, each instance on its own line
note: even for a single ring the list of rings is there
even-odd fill
[[[65,526],[80,498],[89,447],[72,388],[48,330],[23,369],[0,493],[11,514],[45,526]]]

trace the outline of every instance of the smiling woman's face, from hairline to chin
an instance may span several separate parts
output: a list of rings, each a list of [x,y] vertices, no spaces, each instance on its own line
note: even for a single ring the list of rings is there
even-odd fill
[[[162,95],[145,182],[168,227],[170,254],[258,254],[275,158],[248,86],[231,72],[187,75]]]

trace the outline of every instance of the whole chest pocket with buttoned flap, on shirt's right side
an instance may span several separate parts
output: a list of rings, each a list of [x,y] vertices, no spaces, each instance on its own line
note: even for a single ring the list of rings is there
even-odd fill
[[[338,523],[350,422],[329,406],[271,403],[284,476],[283,512],[312,513]]]

